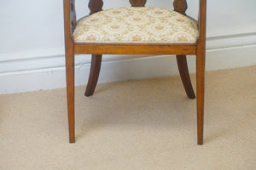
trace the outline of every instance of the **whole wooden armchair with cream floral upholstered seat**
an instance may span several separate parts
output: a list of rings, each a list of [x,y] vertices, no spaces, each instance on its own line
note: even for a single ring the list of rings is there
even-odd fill
[[[174,11],[145,7],[146,0],[102,10],[102,0],[90,0],[90,15],[78,21],[75,0],[63,1],[69,142],[75,142],[74,54],[92,54],[85,96],[95,91],[102,54],[176,54],[183,87],[195,99],[186,60],[190,54],[196,55],[197,143],[203,144],[207,0],[199,0],[198,21],[186,15],[186,0],[174,0]]]

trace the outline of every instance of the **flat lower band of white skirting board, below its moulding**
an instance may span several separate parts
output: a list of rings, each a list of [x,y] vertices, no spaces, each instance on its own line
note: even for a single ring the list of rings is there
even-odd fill
[[[256,65],[256,46],[213,49],[207,51],[207,71]],[[195,73],[195,56],[188,57],[189,71]],[[86,84],[90,64],[76,66],[76,86]],[[177,75],[174,56],[149,56],[102,62],[99,83],[118,82],[148,77]],[[65,88],[65,67],[16,71],[0,75],[0,94],[13,94],[41,89]]]

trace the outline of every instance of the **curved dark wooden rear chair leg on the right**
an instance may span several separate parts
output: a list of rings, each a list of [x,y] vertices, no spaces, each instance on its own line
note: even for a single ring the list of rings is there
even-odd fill
[[[190,99],[195,99],[195,93],[189,77],[189,69],[186,55],[177,55],[176,58],[178,71],[182,79],[183,87],[185,88],[186,94]]]

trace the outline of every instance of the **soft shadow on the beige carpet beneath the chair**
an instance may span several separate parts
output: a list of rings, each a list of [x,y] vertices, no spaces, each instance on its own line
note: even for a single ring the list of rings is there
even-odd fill
[[[145,81],[149,84],[143,86],[140,82]],[[133,86],[136,83],[139,84]],[[125,92],[122,92],[123,85]],[[109,100],[109,94],[115,96]],[[103,85],[96,88],[93,96],[84,99],[82,108],[84,113],[76,116],[83,120],[78,127],[81,133],[77,133],[77,139],[105,126],[196,128],[195,99],[187,98],[182,82],[172,79],[164,78],[157,85],[150,80]]]

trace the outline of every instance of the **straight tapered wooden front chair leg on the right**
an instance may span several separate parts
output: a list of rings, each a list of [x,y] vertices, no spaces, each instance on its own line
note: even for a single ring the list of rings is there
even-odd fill
[[[197,144],[203,144],[205,62],[205,51],[198,50],[196,56]]]

